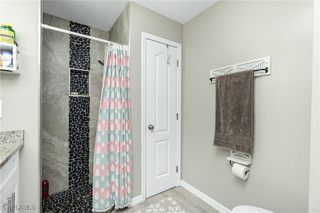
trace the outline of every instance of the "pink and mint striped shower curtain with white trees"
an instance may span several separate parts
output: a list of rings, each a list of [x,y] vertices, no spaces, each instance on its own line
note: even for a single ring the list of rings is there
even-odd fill
[[[93,157],[92,211],[131,202],[131,113],[129,49],[106,45],[97,134]]]

